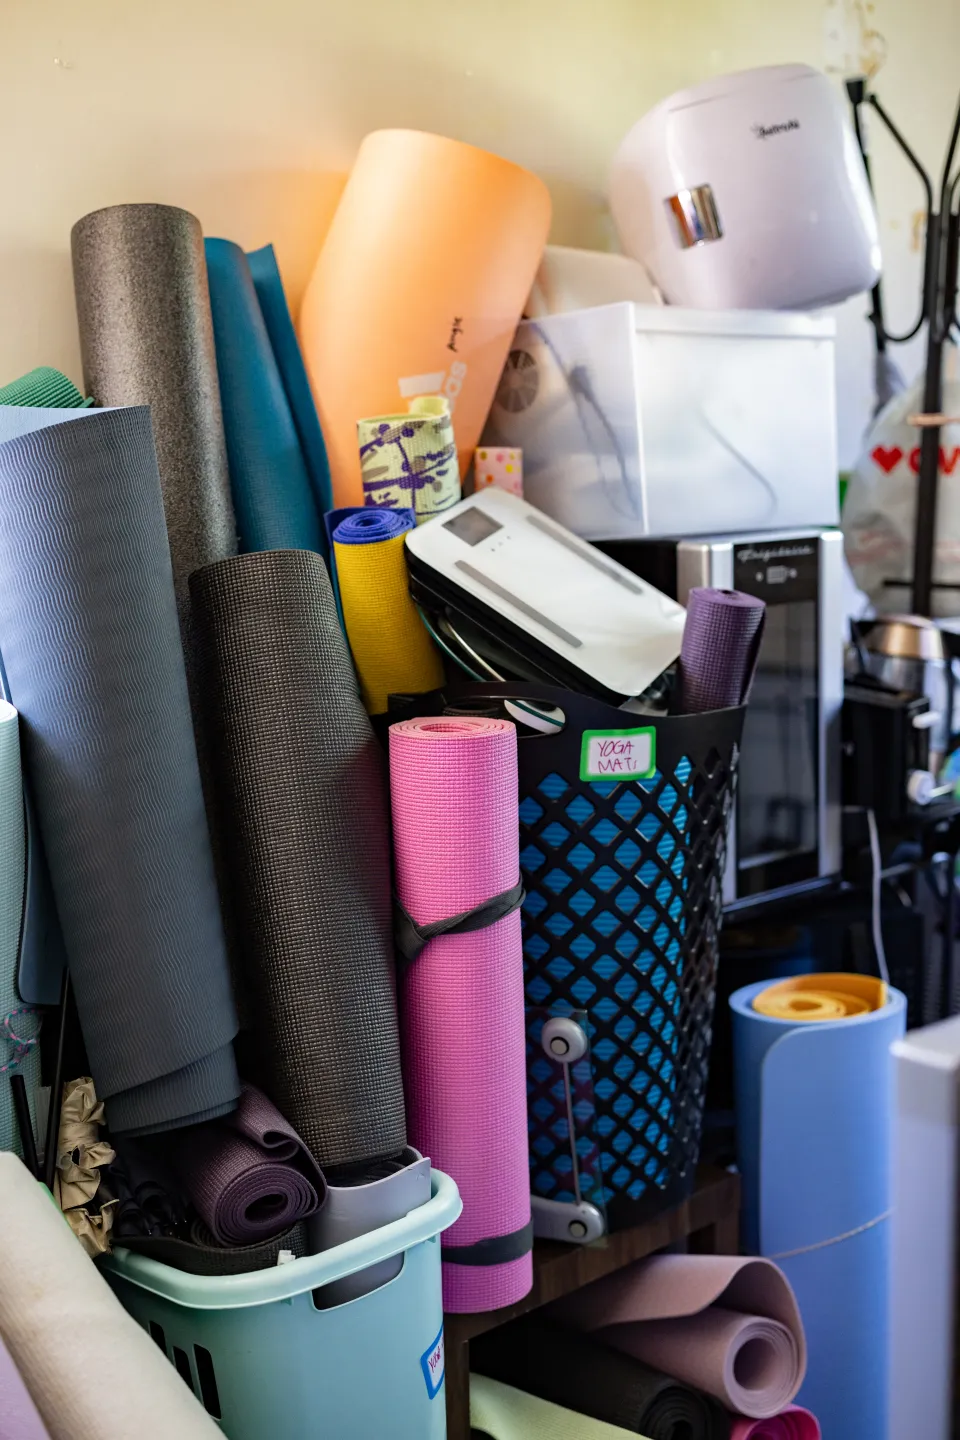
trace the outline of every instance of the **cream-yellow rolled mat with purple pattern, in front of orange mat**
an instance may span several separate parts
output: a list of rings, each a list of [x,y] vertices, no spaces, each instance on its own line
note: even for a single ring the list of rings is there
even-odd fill
[[[422,395],[406,415],[358,420],[357,441],[364,504],[409,505],[422,524],[461,500],[449,400]]]

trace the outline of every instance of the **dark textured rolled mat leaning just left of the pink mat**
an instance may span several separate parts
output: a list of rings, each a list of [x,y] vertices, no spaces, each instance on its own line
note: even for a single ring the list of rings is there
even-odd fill
[[[190,588],[258,1083],[324,1169],[399,1155],[386,779],[327,567],[265,550]]]

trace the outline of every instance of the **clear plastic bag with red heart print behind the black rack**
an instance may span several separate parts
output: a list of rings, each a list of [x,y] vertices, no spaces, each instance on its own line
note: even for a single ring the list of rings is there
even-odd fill
[[[944,354],[943,413],[960,416],[953,347]],[[843,501],[843,543],[853,577],[878,613],[910,611],[923,376],[884,406],[869,431]],[[960,615],[960,423],[940,431],[940,491],[934,547],[933,612]]]

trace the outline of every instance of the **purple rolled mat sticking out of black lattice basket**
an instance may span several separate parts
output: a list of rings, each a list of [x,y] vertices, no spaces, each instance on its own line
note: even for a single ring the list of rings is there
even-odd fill
[[[757,668],[766,605],[741,590],[695,586],[687,598],[678,713],[741,706]]]

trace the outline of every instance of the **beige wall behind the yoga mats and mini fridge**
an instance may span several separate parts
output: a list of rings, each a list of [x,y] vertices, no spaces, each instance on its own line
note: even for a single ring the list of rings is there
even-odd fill
[[[0,382],[42,361],[79,380],[69,230],[91,209],[163,200],[273,240],[296,302],[360,138],[410,125],[540,171],[553,238],[607,248],[606,170],[651,104],[751,65],[842,66],[878,50],[871,27],[882,95],[938,167],[957,0],[0,0]],[[885,144],[877,170],[901,324],[920,200]],[[869,397],[862,314],[841,315],[845,461]]]

